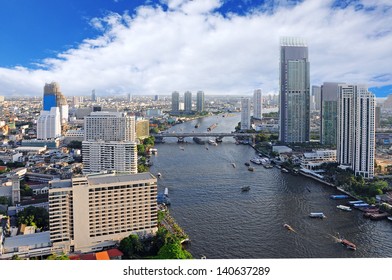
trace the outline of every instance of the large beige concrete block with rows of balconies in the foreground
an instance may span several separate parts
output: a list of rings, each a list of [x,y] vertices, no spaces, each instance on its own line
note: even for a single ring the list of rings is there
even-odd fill
[[[49,188],[50,241],[59,252],[93,252],[132,233],[157,230],[157,179],[150,173],[75,177]]]

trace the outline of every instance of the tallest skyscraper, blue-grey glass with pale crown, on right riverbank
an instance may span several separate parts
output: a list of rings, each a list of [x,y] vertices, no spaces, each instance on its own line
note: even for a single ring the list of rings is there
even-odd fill
[[[281,39],[279,78],[279,140],[307,142],[310,134],[309,60],[308,47],[302,39]]]

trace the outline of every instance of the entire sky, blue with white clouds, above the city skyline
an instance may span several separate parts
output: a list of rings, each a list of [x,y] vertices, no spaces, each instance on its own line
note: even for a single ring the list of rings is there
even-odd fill
[[[391,0],[0,0],[0,95],[277,93],[279,38],[311,83],[392,93]]]

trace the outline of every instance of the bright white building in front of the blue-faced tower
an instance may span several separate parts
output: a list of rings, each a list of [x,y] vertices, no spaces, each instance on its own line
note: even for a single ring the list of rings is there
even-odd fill
[[[37,120],[37,139],[48,140],[61,136],[59,107],[51,107],[50,111],[42,110]]]

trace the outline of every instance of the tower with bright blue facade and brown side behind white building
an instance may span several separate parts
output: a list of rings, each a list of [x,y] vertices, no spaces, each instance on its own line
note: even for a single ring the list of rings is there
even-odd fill
[[[60,111],[61,123],[68,121],[68,103],[67,99],[60,91],[60,86],[56,82],[45,84],[44,86],[44,97],[42,102],[42,108],[44,111],[50,111],[52,107],[58,107]]]

